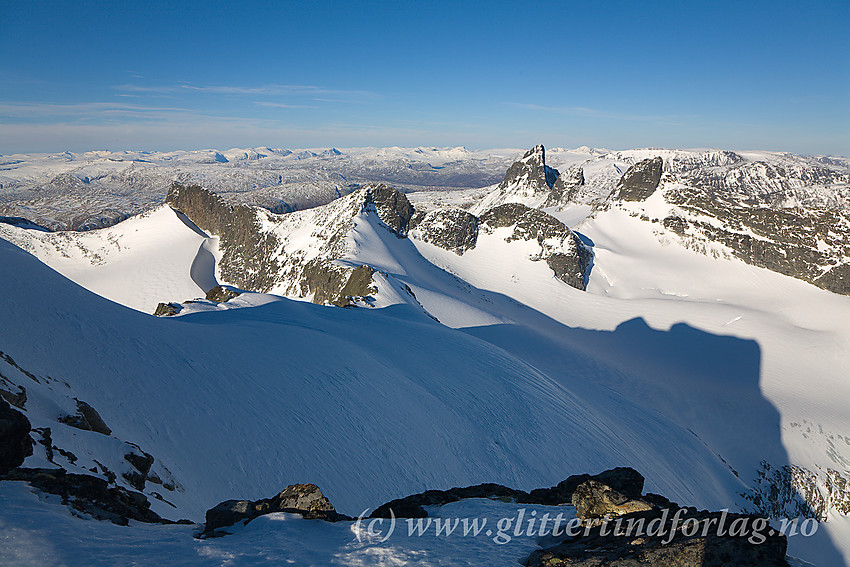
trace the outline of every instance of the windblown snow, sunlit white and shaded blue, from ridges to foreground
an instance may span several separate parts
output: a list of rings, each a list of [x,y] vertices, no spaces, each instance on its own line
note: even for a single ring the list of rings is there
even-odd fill
[[[682,504],[747,509],[742,494],[762,461],[846,468],[850,299],[685,249],[621,209],[577,227],[594,251],[582,292],[500,230],[458,256],[398,238],[366,210],[345,261],[379,270],[376,309],[244,293],[156,318],[147,313],[157,302],[216,281],[215,240],[171,209],[65,244],[3,227],[77,283],[0,241],[0,350],[53,379],[27,383],[27,417],[74,443],[69,471],[110,450],[103,436],[57,426],[55,407],[72,396],[167,468],[171,504],[151,501],[173,519],[201,521],[222,500],[296,482],[356,516],[426,489],[531,489],[614,466]],[[44,465],[36,449],[24,466]],[[20,483],[0,490],[0,538],[20,563],[513,565],[536,545],[358,540],[351,523],[285,514],[198,541],[191,527],[86,522]],[[517,509],[453,506],[438,514]],[[831,513],[814,537],[790,538],[789,554],[846,561],[847,517]]]

